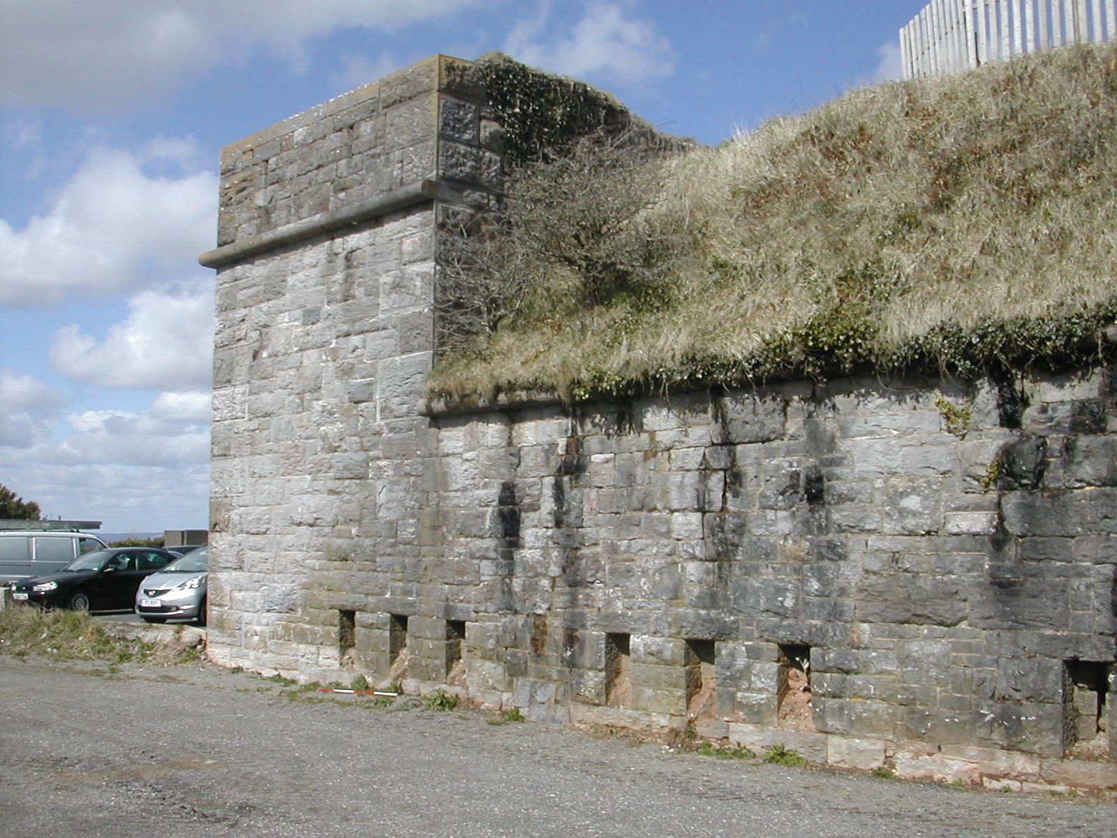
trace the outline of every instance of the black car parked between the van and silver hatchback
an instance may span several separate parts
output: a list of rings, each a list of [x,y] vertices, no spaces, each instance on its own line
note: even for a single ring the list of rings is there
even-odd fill
[[[159,547],[109,547],[12,585],[12,599],[75,611],[131,610],[144,578],[179,558]]]

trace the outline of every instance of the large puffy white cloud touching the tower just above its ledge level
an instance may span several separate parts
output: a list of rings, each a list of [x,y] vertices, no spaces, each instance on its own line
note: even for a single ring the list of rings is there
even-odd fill
[[[95,150],[46,215],[20,230],[0,220],[0,304],[103,296],[194,264],[213,241],[217,174],[147,174],[143,163],[173,163],[166,154],[181,159],[190,141],[159,143],[142,156]]]

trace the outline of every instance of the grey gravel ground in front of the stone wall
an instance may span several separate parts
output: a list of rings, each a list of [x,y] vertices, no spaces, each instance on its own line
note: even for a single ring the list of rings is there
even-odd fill
[[[1105,836],[1117,804],[718,761],[210,666],[0,656],[0,836]],[[359,705],[359,706],[353,706]]]

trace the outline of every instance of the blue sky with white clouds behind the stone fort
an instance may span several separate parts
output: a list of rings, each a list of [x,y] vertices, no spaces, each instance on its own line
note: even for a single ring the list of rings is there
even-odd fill
[[[899,73],[924,0],[0,0],[0,483],[204,527],[222,145],[498,49],[718,143]]]

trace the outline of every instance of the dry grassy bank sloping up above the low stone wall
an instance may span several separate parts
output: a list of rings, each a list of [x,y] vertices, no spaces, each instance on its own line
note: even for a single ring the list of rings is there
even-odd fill
[[[855,91],[666,160],[525,170],[485,245],[514,304],[429,391],[1077,362],[1115,314],[1115,141],[1102,45]]]

